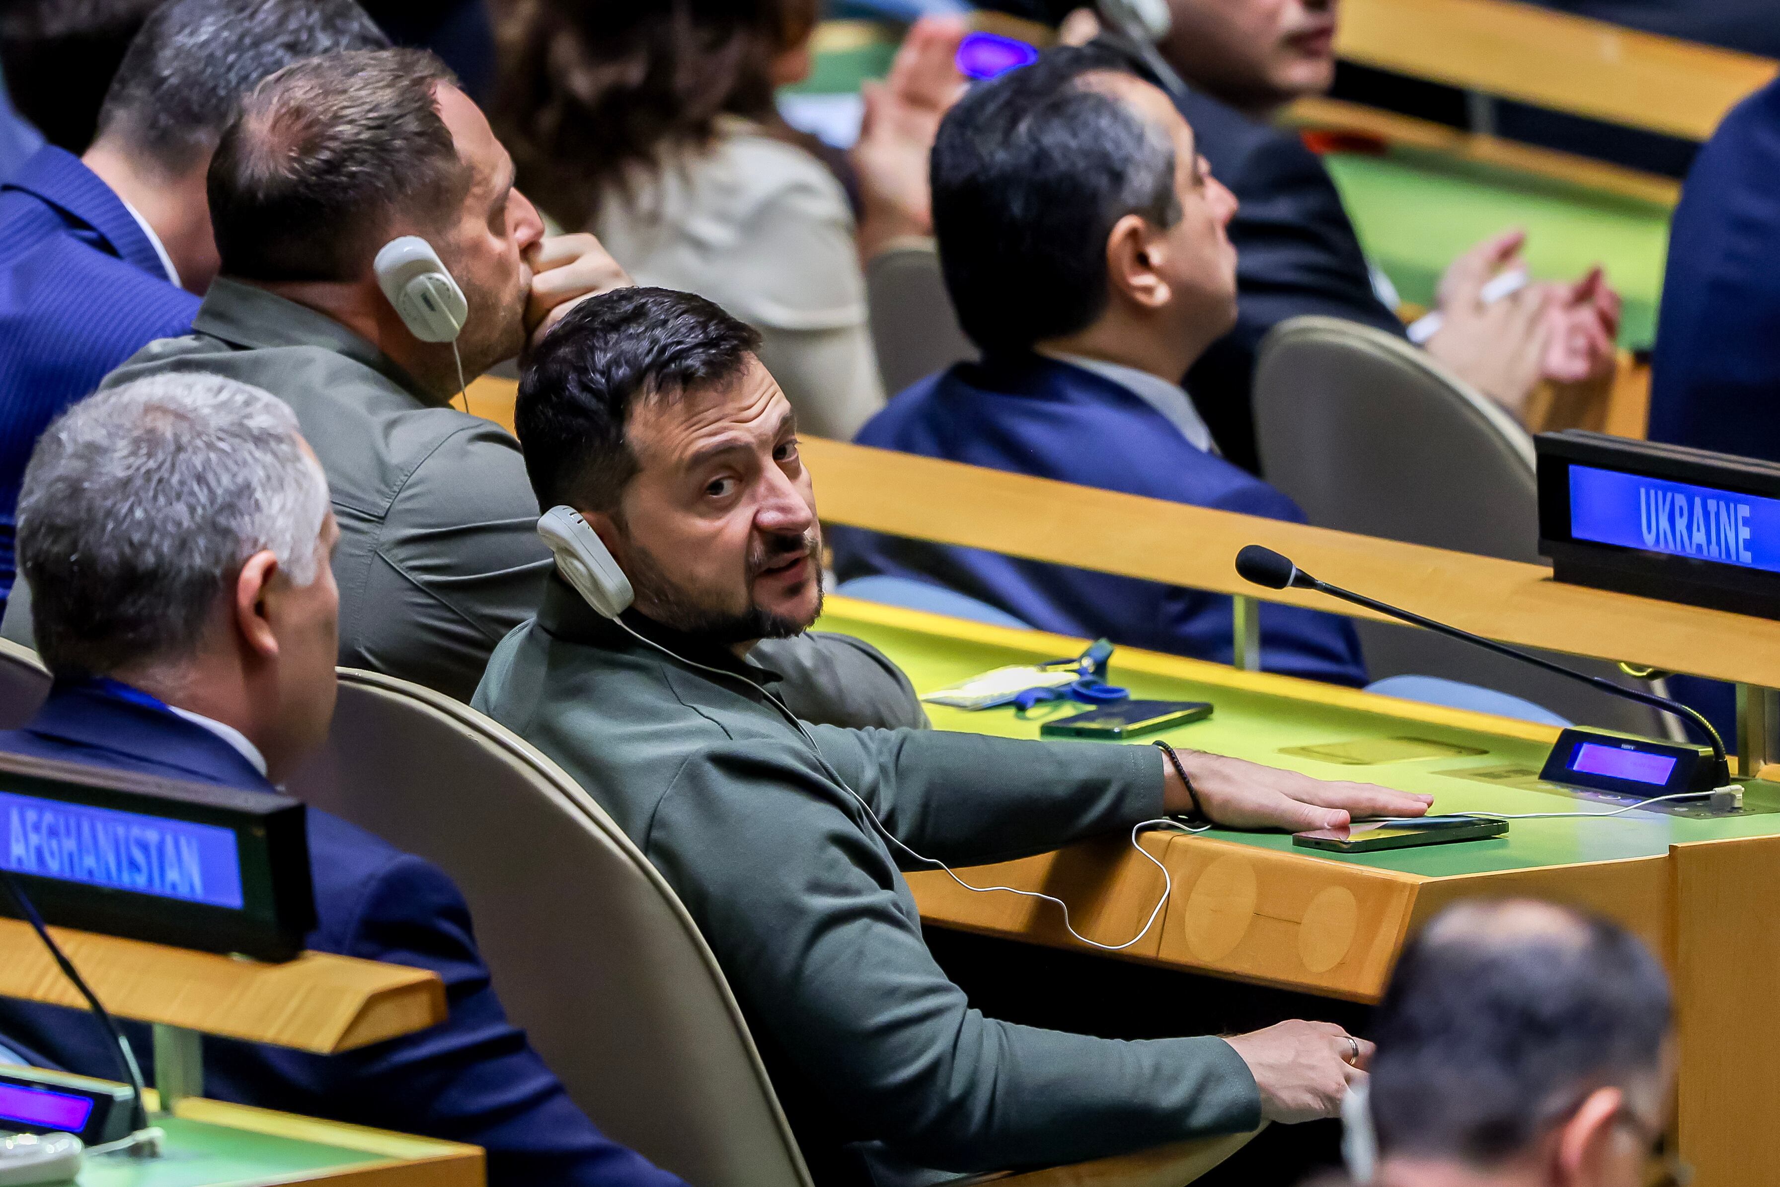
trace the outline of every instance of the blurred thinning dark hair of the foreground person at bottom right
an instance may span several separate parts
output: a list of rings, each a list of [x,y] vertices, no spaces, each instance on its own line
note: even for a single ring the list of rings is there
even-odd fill
[[[1618,924],[1452,908],[1404,949],[1372,1020],[1378,1151],[1499,1166],[1590,1091],[1655,1071],[1670,1021],[1663,966]]]

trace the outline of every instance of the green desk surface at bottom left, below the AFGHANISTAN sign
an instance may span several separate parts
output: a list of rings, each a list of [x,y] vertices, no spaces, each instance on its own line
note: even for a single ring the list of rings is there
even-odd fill
[[[166,1153],[160,1159],[87,1159],[80,1187],[247,1187],[299,1182],[390,1159],[361,1150],[320,1146],[290,1137],[253,1134],[205,1121],[162,1118]]]

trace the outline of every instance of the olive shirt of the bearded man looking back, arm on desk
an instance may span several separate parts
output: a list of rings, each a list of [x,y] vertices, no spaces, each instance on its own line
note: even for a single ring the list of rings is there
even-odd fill
[[[856,1182],[862,1160],[988,1171],[1260,1123],[1223,1039],[1095,1039],[972,1009],[922,941],[902,870],[924,867],[860,803],[920,854],[1002,861],[1159,815],[1157,749],[808,726],[812,744],[760,664],[625,621],[719,673],[554,578],[472,703],[577,778],[685,902],[817,1182]]]

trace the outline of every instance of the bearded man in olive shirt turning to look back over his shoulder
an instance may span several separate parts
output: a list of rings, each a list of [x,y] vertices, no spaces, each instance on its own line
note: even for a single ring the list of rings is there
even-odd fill
[[[472,701],[550,755],[673,884],[717,954],[819,1183],[1079,1162],[1331,1116],[1365,1045],[1287,1021],[1116,1043],[984,1018],[920,934],[902,868],[1043,852],[1198,803],[1328,828],[1428,799],[1148,746],[805,726],[764,637],[821,612],[796,420],[758,338],[689,294],[589,299],[534,352],[518,431],[635,591],[552,578]],[[876,815],[878,822],[870,817]]]

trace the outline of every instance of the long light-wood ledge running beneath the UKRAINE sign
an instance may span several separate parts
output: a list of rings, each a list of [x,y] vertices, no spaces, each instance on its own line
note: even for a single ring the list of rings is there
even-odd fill
[[[1538,564],[819,438],[803,440],[803,457],[815,475],[824,521],[1351,618],[1380,618],[1315,593],[1250,585],[1235,573],[1235,553],[1244,545],[1266,545],[1337,585],[1502,642],[1780,685],[1780,621],[1561,585]]]

